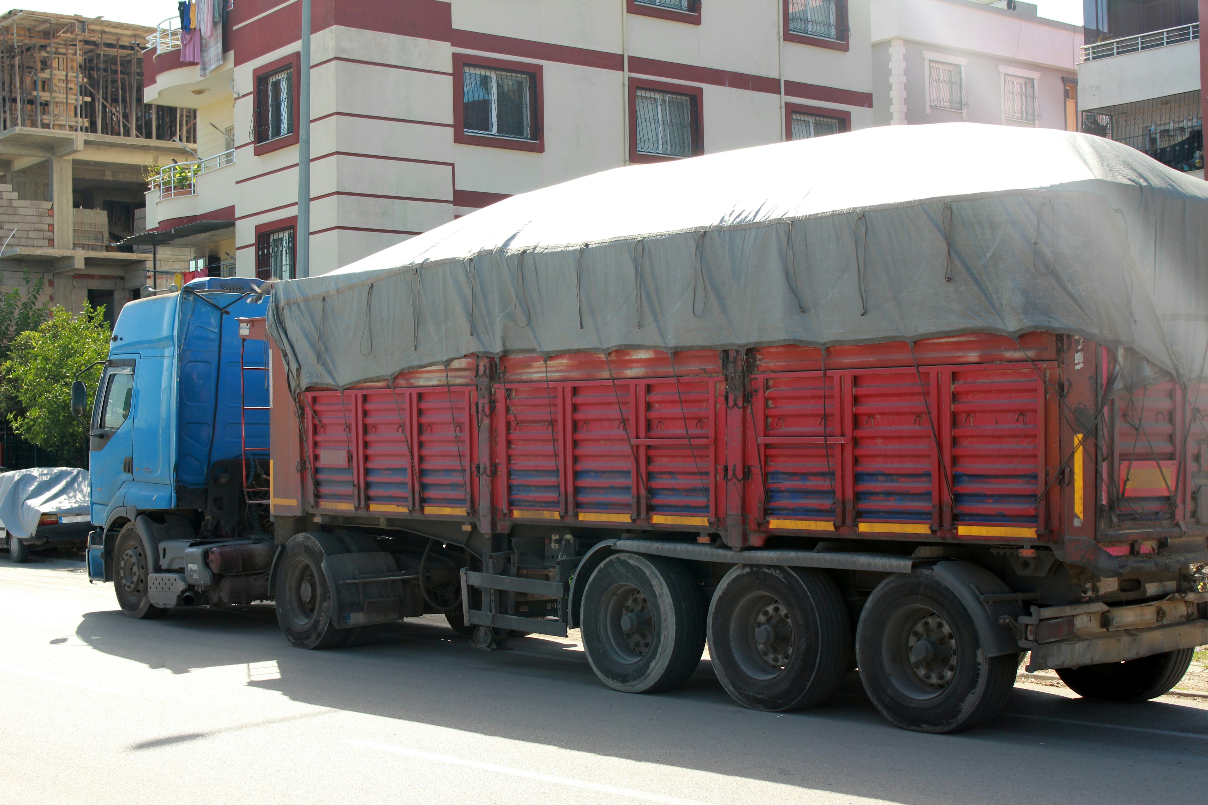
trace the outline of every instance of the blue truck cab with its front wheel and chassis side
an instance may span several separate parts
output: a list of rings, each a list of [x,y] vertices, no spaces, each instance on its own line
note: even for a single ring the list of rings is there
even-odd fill
[[[268,485],[268,350],[240,320],[265,316],[268,291],[193,280],[126,304],[114,326],[88,424],[88,577],[114,581],[127,614],[219,602],[221,561],[207,561],[220,553],[240,570],[225,602],[267,597],[268,507],[246,490]]]

